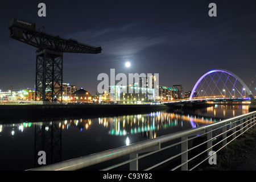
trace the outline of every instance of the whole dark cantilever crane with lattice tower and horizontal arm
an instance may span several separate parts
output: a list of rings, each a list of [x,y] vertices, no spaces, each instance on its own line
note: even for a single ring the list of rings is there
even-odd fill
[[[38,48],[36,50],[35,100],[55,101],[63,95],[63,53],[101,53],[93,47],[74,39],[46,34],[36,30],[35,23],[11,18],[10,38]]]

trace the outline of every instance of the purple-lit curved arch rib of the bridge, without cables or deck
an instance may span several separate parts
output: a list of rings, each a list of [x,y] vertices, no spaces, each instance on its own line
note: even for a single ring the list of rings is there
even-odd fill
[[[210,73],[213,73],[213,72],[222,72],[222,73],[227,73],[228,75],[232,75],[234,78],[236,78],[236,79],[242,84],[242,86],[245,88],[247,94],[249,94],[249,97],[251,98],[251,100],[254,100],[254,96],[253,96],[253,94],[251,93],[251,90],[246,86],[245,82],[243,82],[243,81],[241,80],[241,78],[238,77],[237,75],[235,75],[234,73],[232,73],[232,72],[230,72],[230,71],[227,71],[227,70],[225,70],[225,69],[216,69],[216,70],[212,70],[212,71],[209,71],[209,72],[205,73],[203,76],[201,76],[201,77],[199,78],[199,80],[196,82],[195,86],[193,87],[193,90],[192,90],[192,92],[191,92],[191,95],[190,95],[190,97],[189,97],[189,100],[192,100],[193,94],[195,93],[195,90],[196,90],[197,86],[199,85],[199,83],[201,82],[201,80],[203,80],[203,78],[204,78],[205,76],[208,76]]]

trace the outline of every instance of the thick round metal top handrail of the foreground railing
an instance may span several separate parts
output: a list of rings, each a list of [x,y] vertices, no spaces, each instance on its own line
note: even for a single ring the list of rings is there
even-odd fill
[[[32,171],[61,171],[61,170],[77,170],[85,167],[92,166],[93,164],[98,164],[101,162],[106,162],[107,160],[115,159],[120,156],[128,155],[134,152],[138,152],[144,150],[149,147],[157,146],[159,143],[169,142],[171,140],[180,139],[182,137],[188,137],[197,135],[199,133],[205,133],[208,129],[212,129],[214,127],[226,125],[227,122],[232,122],[240,118],[245,118],[247,115],[256,114],[256,111],[239,115],[237,117],[224,119],[223,121],[219,121],[216,123],[210,123],[208,125],[199,126],[192,129],[187,129],[183,131],[179,131],[172,134],[163,135],[154,139],[144,140],[142,142],[130,144],[129,146],[123,146],[118,148],[113,148],[110,150],[98,152],[96,154],[81,156],[80,158],[65,160],[63,162],[49,164],[47,166],[42,166],[38,168],[32,168],[29,170]]]

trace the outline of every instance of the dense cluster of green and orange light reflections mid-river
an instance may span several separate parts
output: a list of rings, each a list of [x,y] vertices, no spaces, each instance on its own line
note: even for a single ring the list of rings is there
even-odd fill
[[[98,118],[100,125],[109,129],[111,135],[138,134],[147,131],[158,131],[173,127],[183,127],[184,122],[197,127],[216,122],[216,119],[180,115],[168,112],[153,112],[150,114],[123,115],[121,117]],[[153,138],[156,137],[156,132]]]

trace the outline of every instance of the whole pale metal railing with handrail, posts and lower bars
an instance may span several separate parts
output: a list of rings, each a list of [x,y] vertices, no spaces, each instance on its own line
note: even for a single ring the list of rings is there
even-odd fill
[[[123,162],[108,166],[102,170],[115,170],[118,169],[118,167],[125,165],[129,165],[130,171],[148,171],[160,166],[168,166],[168,169],[170,170],[193,170],[255,125],[256,111],[253,111],[251,113],[225,119],[224,121],[209,125],[164,135],[154,139],[148,139],[142,142],[130,144],[129,146],[114,148],[112,150],[98,152],[96,154],[82,156],[80,158],[49,164],[47,166],[30,170],[71,171],[77,169],[86,169],[86,167],[94,164],[109,162],[109,160],[117,159],[121,156],[129,156],[129,158]],[[198,144],[195,145],[196,140],[200,142],[197,142]],[[167,144],[170,142],[171,144]],[[170,156],[167,155],[170,154],[170,152],[167,152],[167,154],[164,154],[164,156],[167,158],[161,162],[153,164],[145,169],[139,169],[139,164],[142,164],[139,163],[139,160],[152,155],[159,155],[159,152],[168,149],[172,150],[172,148],[175,148],[175,150],[178,148],[179,152],[176,152],[176,154]],[[213,151],[213,149],[214,152],[210,152]],[[209,155],[209,152],[211,155]],[[147,162],[148,161],[150,160],[147,160]]]

